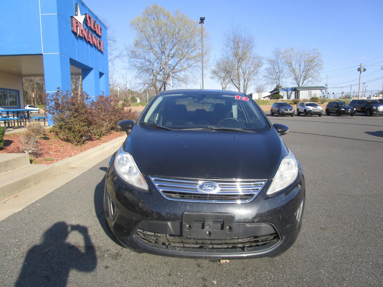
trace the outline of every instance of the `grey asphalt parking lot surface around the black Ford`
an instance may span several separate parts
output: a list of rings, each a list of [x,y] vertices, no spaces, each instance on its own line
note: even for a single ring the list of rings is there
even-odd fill
[[[383,116],[268,117],[290,127],[282,139],[306,178],[285,253],[220,263],[119,246],[103,219],[104,160],[0,222],[0,285],[382,286]]]

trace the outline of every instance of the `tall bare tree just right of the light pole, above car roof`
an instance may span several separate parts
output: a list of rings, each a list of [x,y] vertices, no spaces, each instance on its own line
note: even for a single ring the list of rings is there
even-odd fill
[[[230,81],[239,92],[246,93],[257,81],[262,58],[255,54],[254,48],[254,36],[246,28],[232,25],[224,34],[221,54],[227,59],[225,70],[230,72]]]

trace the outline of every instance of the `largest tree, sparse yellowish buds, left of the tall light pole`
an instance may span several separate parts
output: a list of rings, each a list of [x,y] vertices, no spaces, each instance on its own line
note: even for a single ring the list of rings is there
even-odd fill
[[[201,31],[198,21],[179,10],[174,13],[157,4],[147,6],[130,21],[136,33],[133,45],[126,47],[128,63],[142,84],[156,92],[166,90],[170,73],[175,85],[188,83],[200,72]],[[210,36],[204,31],[204,54],[210,54]],[[206,60],[206,62],[207,62]]]

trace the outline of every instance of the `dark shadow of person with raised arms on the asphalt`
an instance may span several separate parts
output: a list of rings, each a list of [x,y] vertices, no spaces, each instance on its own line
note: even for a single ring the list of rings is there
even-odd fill
[[[84,246],[80,248],[84,251],[66,242],[72,231],[83,236]],[[71,269],[91,272],[96,266],[97,256],[88,228],[57,222],[44,233],[42,243],[29,249],[15,286],[64,287]]]

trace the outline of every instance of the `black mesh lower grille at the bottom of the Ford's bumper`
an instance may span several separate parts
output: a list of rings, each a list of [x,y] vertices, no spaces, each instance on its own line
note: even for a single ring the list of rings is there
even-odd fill
[[[256,252],[264,249],[269,249],[278,244],[280,241],[277,233],[266,234],[262,236],[252,237],[234,237],[231,240],[208,240],[185,238],[177,235],[164,233],[149,232],[146,230],[137,229],[137,237],[155,245],[160,245],[171,249],[172,247],[183,248],[198,248],[198,249],[241,249],[245,252]],[[262,250],[257,250],[262,249]],[[177,249],[176,249],[177,251]]]

